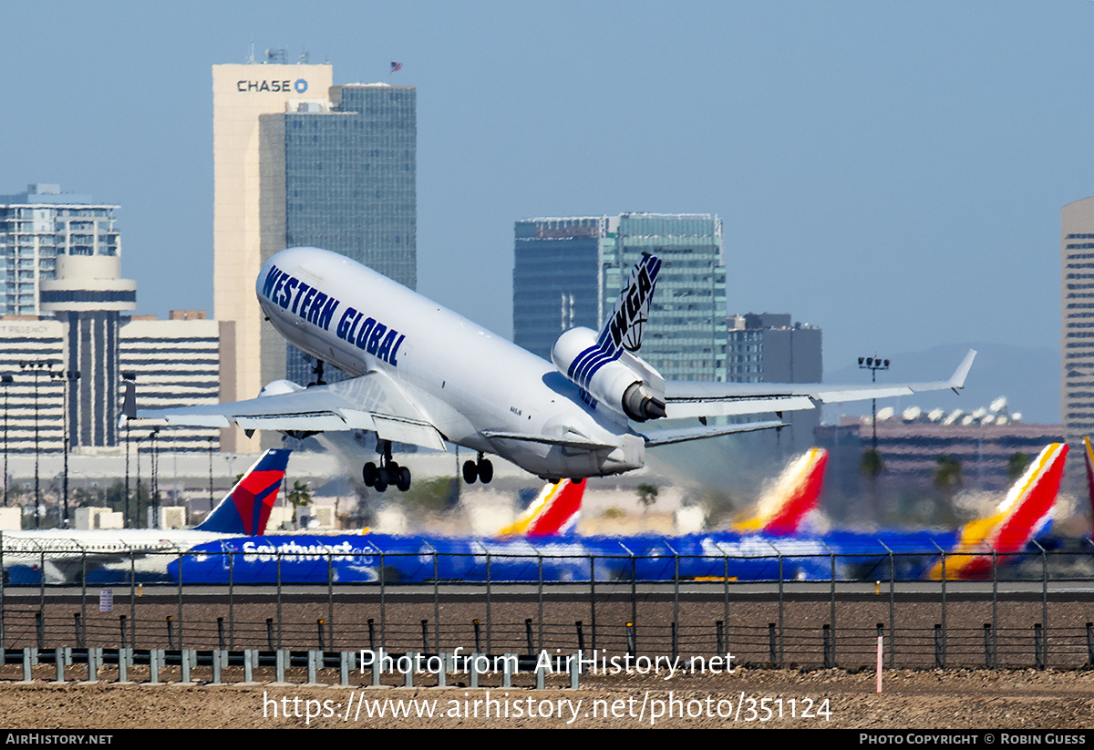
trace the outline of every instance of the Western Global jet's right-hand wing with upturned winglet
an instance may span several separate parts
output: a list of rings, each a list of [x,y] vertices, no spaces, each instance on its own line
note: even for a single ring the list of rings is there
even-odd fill
[[[923,390],[955,391],[965,387],[965,377],[973,366],[975,350],[965,359],[948,380],[932,383],[828,385],[824,383],[689,383],[668,380],[665,384],[665,415],[730,417],[765,411],[798,411],[814,409],[816,403],[860,401],[869,398],[909,396]]]

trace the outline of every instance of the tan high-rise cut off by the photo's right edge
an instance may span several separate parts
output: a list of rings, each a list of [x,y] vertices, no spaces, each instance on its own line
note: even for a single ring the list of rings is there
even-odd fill
[[[1094,432],[1094,198],[1061,212],[1060,307],[1060,412],[1074,445]]]

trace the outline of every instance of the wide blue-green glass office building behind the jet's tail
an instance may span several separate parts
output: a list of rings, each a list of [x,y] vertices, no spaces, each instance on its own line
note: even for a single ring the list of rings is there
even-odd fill
[[[673,380],[725,380],[722,221],[711,214],[516,222],[513,341],[550,359],[559,335],[600,330],[643,253],[662,259],[639,354]]]

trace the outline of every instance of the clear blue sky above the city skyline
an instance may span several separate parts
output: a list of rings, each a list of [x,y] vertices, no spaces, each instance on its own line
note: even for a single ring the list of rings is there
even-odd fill
[[[306,50],[336,83],[417,86],[419,291],[500,333],[514,221],[713,212],[731,312],[823,327],[827,371],[967,341],[1058,359],[1092,22],[1075,0],[10,3],[0,192],[119,203],[140,312],[211,309],[210,67]]]

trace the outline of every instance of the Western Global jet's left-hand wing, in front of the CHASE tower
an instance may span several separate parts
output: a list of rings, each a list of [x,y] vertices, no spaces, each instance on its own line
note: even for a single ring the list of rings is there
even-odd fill
[[[341,383],[277,392],[245,401],[136,412],[131,422],[243,430],[337,432],[371,430],[384,440],[444,450],[444,438],[403,389],[374,372]],[[127,399],[128,400],[128,399]]]

